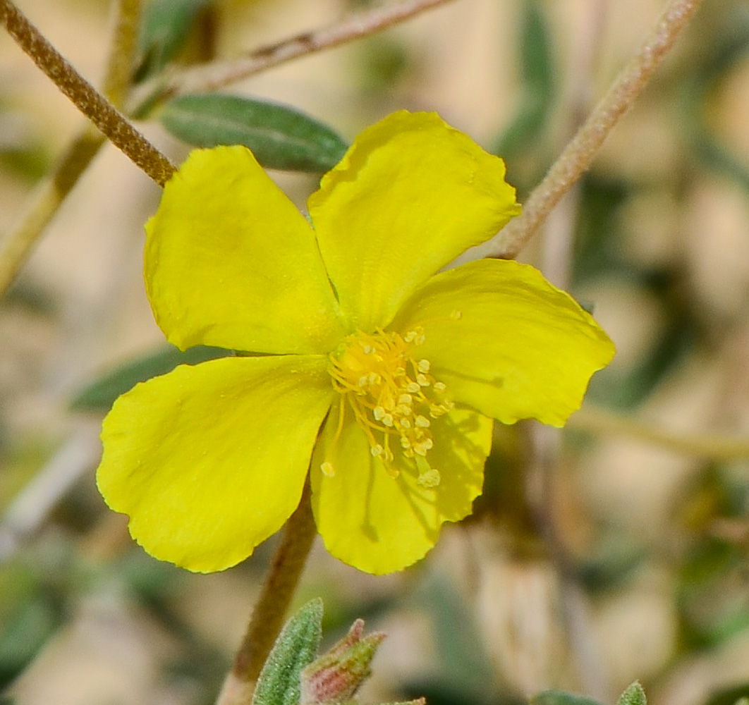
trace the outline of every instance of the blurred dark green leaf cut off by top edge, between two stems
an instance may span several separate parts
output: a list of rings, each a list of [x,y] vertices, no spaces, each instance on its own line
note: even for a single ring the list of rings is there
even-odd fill
[[[138,36],[142,55],[136,82],[158,73],[184,46],[198,12],[213,0],[151,0]]]

